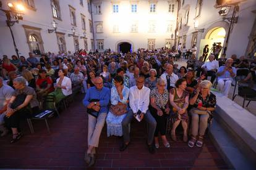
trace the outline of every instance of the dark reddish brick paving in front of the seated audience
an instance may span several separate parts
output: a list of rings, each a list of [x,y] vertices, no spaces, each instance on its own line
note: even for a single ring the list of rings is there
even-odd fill
[[[146,146],[147,126],[131,124],[131,144],[119,152],[119,137],[107,137],[106,126],[100,137],[97,160],[93,168],[83,161],[87,147],[87,115],[83,95],[76,97],[60,118],[49,119],[51,133],[44,121],[33,121],[35,134],[22,123],[24,136],[9,144],[11,135],[0,138],[0,168],[19,169],[228,169],[211,141],[202,148],[189,148],[184,142],[171,142],[171,148],[160,148],[154,155]],[[170,137],[168,136],[168,139]]]

